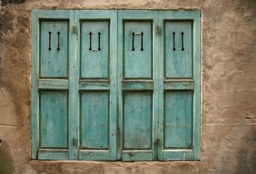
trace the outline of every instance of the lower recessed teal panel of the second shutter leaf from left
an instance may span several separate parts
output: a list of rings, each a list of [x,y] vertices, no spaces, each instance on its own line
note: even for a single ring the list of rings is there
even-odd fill
[[[81,93],[80,115],[80,148],[108,148],[108,92]]]

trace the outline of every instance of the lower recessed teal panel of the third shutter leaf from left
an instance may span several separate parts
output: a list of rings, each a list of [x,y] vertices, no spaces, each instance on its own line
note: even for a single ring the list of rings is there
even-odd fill
[[[123,141],[123,149],[151,148],[151,93],[124,93]]]

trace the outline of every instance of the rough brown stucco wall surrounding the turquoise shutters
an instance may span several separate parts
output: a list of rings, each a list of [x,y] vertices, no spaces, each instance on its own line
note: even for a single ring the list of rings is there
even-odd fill
[[[31,161],[31,8],[202,10],[201,161]],[[256,173],[255,0],[2,0],[0,9],[0,173]]]

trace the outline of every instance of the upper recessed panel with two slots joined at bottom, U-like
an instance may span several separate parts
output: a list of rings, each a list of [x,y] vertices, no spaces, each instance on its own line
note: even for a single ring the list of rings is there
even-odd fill
[[[109,22],[81,22],[81,78],[109,77]]]

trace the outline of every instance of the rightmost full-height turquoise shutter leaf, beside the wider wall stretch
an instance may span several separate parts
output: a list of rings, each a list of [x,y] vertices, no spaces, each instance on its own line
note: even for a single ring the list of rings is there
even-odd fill
[[[159,11],[159,160],[200,155],[200,12]]]

